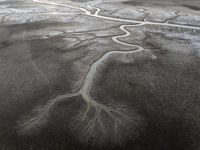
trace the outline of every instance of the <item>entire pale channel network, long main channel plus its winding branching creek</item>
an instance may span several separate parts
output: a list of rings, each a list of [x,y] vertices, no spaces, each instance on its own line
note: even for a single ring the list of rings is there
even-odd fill
[[[100,12],[99,8],[91,7],[89,5],[87,6],[88,8],[96,9],[94,14],[91,14],[90,11],[88,11],[84,8],[79,8],[79,7],[76,7],[76,6],[71,6],[71,5],[66,5],[66,4],[58,4],[58,3],[47,2],[47,1],[40,1],[40,0],[33,0],[33,1],[38,2],[38,3],[42,3],[42,4],[49,4],[49,5],[56,5],[56,6],[78,9],[78,10],[84,11],[85,15],[96,17],[96,18],[102,18],[102,19],[120,21],[120,22],[127,22],[127,23],[134,23],[134,25],[121,25],[120,30],[122,30],[124,32],[124,34],[112,37],[112,40],[114,42],[125,45],[125,46],[133,47],[133,50],[127,50],[127,51],[118,50],[118,51],[109,51],[109,52],[104,53],[98,60],[93,62],[93,64],[91,65],[90,70],[88,71],[88,73],[85,77],[84,83],[83,83],[83,85],[82,85],[82,87],[79,91],[74,92],[74,93],[67,93],[67,94],[57,96],[56,98],[50,100],[44,107],[36,108],[36,111],[37,111],[36,116],[32,116],[31,119],[28,119],[28,120],[23,120],[23,122],[21,122],[19,124],[19,127],[20,127],[19,132],[23,133],[23,134],[29,133],[30,130],[38,128],[39,125],[41,125],[41,126],[44,125],[45,124],[44,120],[45,120],[45,118],[48,118],[47,116],[49,115],[49,110],[54,106],[55,103],[57,103],[57,102],[59,102],[63,99],[70,99],[70,98],[75,97],[75,96],[82,96],[83,100],[87,103],[86,110],[78,118],[78,121],[79,121],[78,126],[81,125],[81,122],[83,122],[86,119],[86,116],[87,116],[89,110],[92,107],[95,109],[95,114],[94,114],[93,118],[88,121],[87,125],[84,128],[84,131],[83,131],[84,134],[90,134],[94,130],[96,123],[99,123],[101,125],[101,127],[104,126],[102,121],[101,121],[101,118],[99,117],[102,110],[105,111],[112,118],[112,120],[114,122],[113,130],[114,130],[114,133],[117,134],[118,126],[122,125],[122,124],[126,124],[126,121],[131,121],[132,118],[128,115],[125,115],[122,111],[120,111],[118,109],[114,109],[114,108],[105,106],[105,105],[95,101],[90,96],[90,90],[91,90],[91,87],[92,87],[92,84],[93,84],[94,76],[95,76],[96,71],[97,71],[97,67],[101,64],[101,62],[106,60],[111,54],[114,54],[114,53],[116,53],[116,54],[132,54],[132,53],[137,53],[137,52],[141,52],[141,51],[146,50],[139,45],[125,43],[125,42],[122,42],[122,41],[119,40],[119,38],[125,38],[125,37],[128,37],[131,34],[125,28],[150,24],[150,25],[171,26],[171,27],[180,27],[180,28],[200,30],[200,27],[196,27],[196,26],[177,25],[177,24],[168,24],[168,23],[157,23],[157,22],[145,22],[145,21],[134,21],[134,20],[127,20],[127,19],[119,19],[119,18],[111,18],[111,17],[101,16],[101,15],[99,15],[99,12]],[[121,118],[125,119],[126,121],[122,120]],[[41,122],[43,122],[43,123],[41,124]]]

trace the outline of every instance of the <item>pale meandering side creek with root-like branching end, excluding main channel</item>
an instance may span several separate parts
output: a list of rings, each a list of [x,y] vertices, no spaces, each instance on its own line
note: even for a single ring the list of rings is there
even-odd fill
[[[44,125],[45,124],[45,118],[48,117],[48,112],[51,109],[51,107],[53,107],[55,105],[55,103],[63,100],[63,99],[67,99],[67,98],[72,98],[75,96],[79,96],[81,95],[84,99],[84,101],[87,103],[87,109],[85,110],[85,112],[82,114],[82,116],[79,118],[80,123],[77,125],[79,126],[81,124],[82,121],[85,120],[87,113],[89,112],[89,110],[94,107],[95,108],[95,115],[93,117],[92,120],[90,120],[85,128],[84,134],[90,134],[94,127],[96,122],[98,122],[101,126],[103,126],[103,123],[101,122],[100,119],[100,113],[102,110],[104,110],[114,121],[115,123],[115,127],[114,127],[114,133],[117,134],[117,126],[119,124],[124,124],[124,122],[121,120],[121,117],[126,119],[126,121],[131,121],[130,116],[127,116],[125,114],[123,114],[121,111],[119,110],[115,110],[113,108],[110,108],[108,106],[105,106],[101,103],[96,102],[94,99],[92,99],[92,97],[90,96],[90,90],[93,84],[93,80],[94,80],[94,76],[96,74],[97,71],[97,67],[101,64],[101,62],[103,62],[105,59],[107,59],[111,54],[117,53],[117,54],[132,54],[132,53],[137,53],[140,51],[145,50],[143,47],[138,46],[138,45],[134,45],[134,44],[128,44],[122,41],[119,41],[118,38],[122,38],[122,37],[127,37],[130,35],[130,32],[128,30],[125,29],[126,25],[123,25],[120,27],[120,29],[122,31],[125,32],[125,34],[123,35],[119,35],[119,36],[115,36],[113,37],[113,40],[119,44],[123,44],[126,46],[132,46],[133,50],[118,50],[118,51],[109,51],[106,52],[105,54],[103,54],[98,60],[96,60],[90,67],[90,70],[88,71],[86,78],[84,80],[84,83],[81,87],[81,89],[75,93],[69,93],[69,94],[63,94],[63,95],[59,95],[56,98],[50,100],[44,107],[42,108],[36,108],[35,111],[37,111],[37,115],[32,117],[29,120],[24,120],[23,122],[20,122],[20,130],[19,132],[21,134],[26,134],[29,133],[30,130],[38,128],[39,125]],[[136,26],[136,25],[128,25],[128,26]],[[120,109],[120,108],[119,108]],[[114,114],[115,115],[114,115]],[[116,115],[118,115],[118,117],[116,117]],[[43,124],[41,124],[41,122]]]

